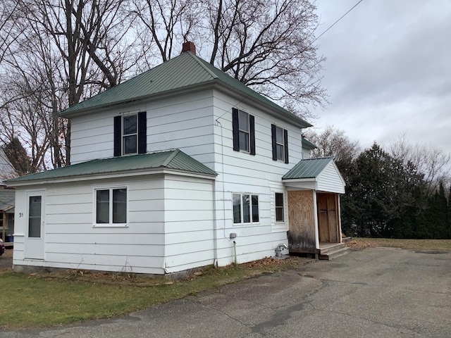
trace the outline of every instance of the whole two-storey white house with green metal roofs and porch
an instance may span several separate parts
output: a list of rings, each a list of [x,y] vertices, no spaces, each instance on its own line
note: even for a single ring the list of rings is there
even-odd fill
[[[311,125],[183,51],[61,112],[72,165],[8,181],[16,270],[166,275],[274,256],[289,237],[340,244],[344,181],[308,158]]]

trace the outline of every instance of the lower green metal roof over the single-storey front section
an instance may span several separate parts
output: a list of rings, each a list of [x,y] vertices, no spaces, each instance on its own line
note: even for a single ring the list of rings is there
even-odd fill
[[[18,182],[34,182],[37,180],[55,180],[68,177],[78,177],[85,175],[98,175],[109,173],[122,173],[130,170],[147,170],[156,168],[168,168],[182,170],[190,173],[206,175],[218,175],[214,170],[206,167],[199,161],[188,156],[179,149],[171,151],[161,151],[159,153],[142,154],[133,156],[120,156],[114,158],[102,158],[99,160],[87,161],[63,168],[47,170],[42,173],[35,173],[23,177],[8,180],[8,184],[14,185]]]

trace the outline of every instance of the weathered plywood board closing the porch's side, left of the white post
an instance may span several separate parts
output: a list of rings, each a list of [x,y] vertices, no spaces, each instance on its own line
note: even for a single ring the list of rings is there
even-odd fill
[[[315,249],[315,215],[313,191],[288,192],[288,243],[290,249]]]

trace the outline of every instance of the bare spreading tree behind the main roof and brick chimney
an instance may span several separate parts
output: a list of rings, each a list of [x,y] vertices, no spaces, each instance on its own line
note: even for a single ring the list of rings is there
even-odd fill
[[[316,7],[309,0],[135,0],[135,10],[161,61],[175,43],[193,41],[201,56],[257,92],[304,117],[322,105]],[[180,48],[180,47],[179,47]],[[180,49],[178,49],[180,51]]]

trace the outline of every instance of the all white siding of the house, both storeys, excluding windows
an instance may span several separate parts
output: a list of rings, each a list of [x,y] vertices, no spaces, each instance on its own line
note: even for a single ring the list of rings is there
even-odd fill
[[[233,107],[254,116],[255,156],[233,151]],[[113,157],[114,116],[139,111],[147,111],[147,151],[181,149],[215,170],[216,180],[149,175],[102,182],[128,187],[128,227],[118,228],[92,227],[99,180],[53,184],[47,190],[46,261],[33,264],[163,274],[215,259],[230,264],[234,241],[238,263],[273,256],[278,244],[288,244],[287,215],[275,223],[274,192],[285,191],[281,177],[302,159],[301,128],[242,96],[211,89],[73,118],[71,162]],[[271,124],[288,130],[289,163],[272,161]],[[258,196],[258,223],[234,226],[233,194]],[[18,233],[14,263],[24,264]],[[230,240],[230,233],[237,237]]]

